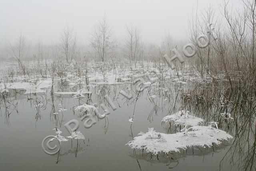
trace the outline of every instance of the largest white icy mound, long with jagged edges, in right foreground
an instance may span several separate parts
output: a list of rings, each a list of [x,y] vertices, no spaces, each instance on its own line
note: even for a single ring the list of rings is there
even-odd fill
[[[138,137],[128,142],[132,149],[145,149],[154,155],[170,151],[180,152],[180,149],[187,149],[192,146],[212,147],[213,144],[220,145],[221,140],[232,139],[233,137],[222,131],[209,126],[190,127],[187,132],[165,134],[148,128],[147,133],[139,133]]]

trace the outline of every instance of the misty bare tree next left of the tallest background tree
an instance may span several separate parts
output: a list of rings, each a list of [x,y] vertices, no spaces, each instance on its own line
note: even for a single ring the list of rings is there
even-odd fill
[[[66,62],[71,62],[76,57],[76,33],[69,26],[61,34],[60,51]]]

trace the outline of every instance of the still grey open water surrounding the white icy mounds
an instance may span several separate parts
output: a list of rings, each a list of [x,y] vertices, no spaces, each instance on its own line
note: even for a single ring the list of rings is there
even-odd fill
[[[172,85],[173,83],[166,84]],[[167,133],[169,125],[162,124],[162,118],[177,112],[184,104],[179,96],[176,98],[174,89],[169,91],[172,98],[164,97],[159,93],[158,97],[154,99],[154,103],[152,103],[150,95],[156,94],[156,92],[150,90],[151,94],[149,94],[150,91],[144,90],[139,94],[134,107],[134,98],[127,101],[122,95],[118,95],[124,86],[130,85],[92,86],[90,99],[74,99],[72,95],[51,95],[50,88],[44,89],[46,93],[36,95],[24,95],[24,91],[10,92],[12,97],[8,101],[14,105],[6,102],[6,105],[10,106],[7,109],[9,117],[6,116],[4,103],[0,106],[0,170],[240,170],[236,163],[231,162],[237,159],[236,155],[232,157],[227,155],[230,151],[234,151],[234,149],[230,149],[233,140],[223,142],[224,145],[214,147],[214,149],[195,148],[193,149],[194,154],[192,149],[181,150],[180,153],[173,153],[170,159],[163,155],[159,156],[159,159],[153,155],[150,159],[150,154],[145,151],[142,156],[142,151],[134,151],[128,147],[126,143],[131,141],[132,137],[136,137],[140,131],[147,132],[150,127],[154,127],[157,132]],[[70,91],[69,87],[60,88],[58,83],[55,84],[54,89],[55,91],[60,89]],[[186,89],[186,87],[178,85],[178,89]],[[89,129],[84,128],[83,122],[80,120],[82,113],[74,111],[74,106],[97,103],[97,107],[99,107],[104,94],[108,94],[110,98],[114,99],[117,109],[113,111],[108,106],[110,111],[108,117],[100,120],[95,117],[97,123]],[[166,98],[167,100],[164,100]],[[36,102],[43,104],[39,110],[34,107]],[[59,113],[57,120],[52,113],[53,109],[58,110],[59,104],[62,104],[62,107],[67,110],[63,111],[63,115]],[[154,110],[155,104],[158,106],[157,110]],[[187,107],[196,115],[204,115],[202,112],[193,111],[196,106]],[[212,112],[211,109],[202,109],[202,111],[210,110],[208,112]],[[131,127],[128,119],[132,115],[134,115],[134,123]],[[62,131],[62,136],[69,136],[64,124],[71,119],[79,121],[79,130],[85,136],[85,141],[80,139],[78,143],[74,140],[62,142],[59,153],[55,155],[44,153],[41,145],[44,137],[56,135],[52,130],[56,125]],[[230,130],[225,131],[235,137]]]

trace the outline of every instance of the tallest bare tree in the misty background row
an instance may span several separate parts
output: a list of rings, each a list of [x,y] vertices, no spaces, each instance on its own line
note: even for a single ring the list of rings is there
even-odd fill
[[[102,20],[94,26],[94,32],[90,40],[90,45],[94,48],[102,62],[107,59],[109,52],[114,48],[114,42],[110,40],[111,36],[112,30],[106,15],[104,15]]]

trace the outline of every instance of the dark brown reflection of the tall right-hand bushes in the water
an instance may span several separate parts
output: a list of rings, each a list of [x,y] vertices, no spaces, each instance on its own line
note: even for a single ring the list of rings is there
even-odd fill
[[[176,97],[175,101],[180,102],[178,104],[181,106],[180,109],[192,111],[195,116],[203,118],[205,123],[216,121],[219,129],[228,131],[234,136],[228,152],[220,162],[220,169],[226,161],[229,161],[241,170],[255,170],[256,103],[254,91],[250,89],[241,91],[239,88],[230,91],[222,84],[207,84],[206,86],[194,84],[193,86],[180,91],[178,99]],[[177,103],[170,103],[168,109],[172,109],[175,104],[177,105]],[[230,112],[234,120],[220,115],[225,112]],[[171,133],[174,133],[178,127],[164,125],[166,132],[170,128]]]

